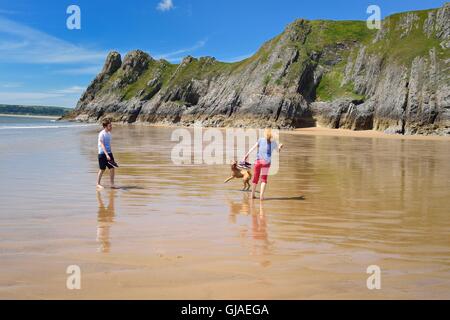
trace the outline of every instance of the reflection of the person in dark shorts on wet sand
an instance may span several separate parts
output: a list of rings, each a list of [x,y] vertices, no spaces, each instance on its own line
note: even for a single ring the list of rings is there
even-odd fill
[[[97,242],[100,244],[98,251],[109,252],[111,249],[110,229],[114,223],[114,198],[115,190],[108,194],[108,205],[105,206],[101,192],[97,192],[98,213],[97,213]]]

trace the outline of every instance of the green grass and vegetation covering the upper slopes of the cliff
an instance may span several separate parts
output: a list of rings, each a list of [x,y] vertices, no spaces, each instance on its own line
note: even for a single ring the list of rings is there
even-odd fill
[[[365,21],[299,19],[245,60],[225,63],[210,57],[187,57],[180,64],[172,64],[149,57],[145,70],[140,74],[130,76],[121,68],[102,85],[101,92],[113,92],[123,100],[138,96],[150,99],[158,92],[183,88],[194,79],[209,81],[248,72],[262,65],[268,68],[264,74],[257,75],[260,83],[272,91],[279,91],[299,85],[300,78],[309,69],[316,70],[320,65],[323,72],[319,75],[319,83],[312,89],[314,92],[308,89],[309,98],[318,101],[341,97],[363,99],[354,91],[351,81],[343,82],[349,57],[355,60],[362,47],[369,55],[377,55],[382,60],[395,61],[406,67],[410,67],[415,57],[427,55],[431,48],[435,48],[441,58],[448,57],[449,50],[440,46],[435,33],[427,35],[424,32],[427,19],[435,11],[392,15],[383,21],[381,30],[369,29]],[[288,66],[280,57],[280,52],[283,54],[284,51],[297,52]]]

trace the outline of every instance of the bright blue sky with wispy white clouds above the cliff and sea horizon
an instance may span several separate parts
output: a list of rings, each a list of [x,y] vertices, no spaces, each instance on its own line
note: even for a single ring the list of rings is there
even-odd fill
[[[441,0],[0,0],[0,104],[75,107],[109,51],[239,61],[295,19],[366,20]],[[67,9],[80,9],[69,29]]]

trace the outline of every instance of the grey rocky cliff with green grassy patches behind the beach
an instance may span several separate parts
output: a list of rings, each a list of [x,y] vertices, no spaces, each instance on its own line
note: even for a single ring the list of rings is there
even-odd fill
[[[450,134],[450,4],[365,21],[297,20],[252,57],[106,58],[67,118],[205,126],[328,126]]]

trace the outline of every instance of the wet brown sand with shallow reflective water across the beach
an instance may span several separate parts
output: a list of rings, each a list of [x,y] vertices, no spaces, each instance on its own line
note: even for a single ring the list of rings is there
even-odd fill
[[[172,131],[115,126],[97,193],[97,127],[0,130],[0,297],[450,298],[449,141],[282,134],[260,204]]]

